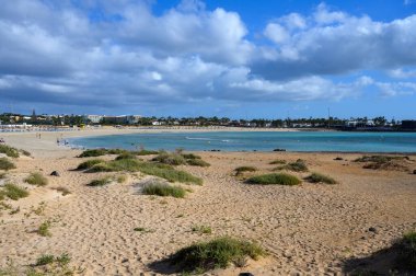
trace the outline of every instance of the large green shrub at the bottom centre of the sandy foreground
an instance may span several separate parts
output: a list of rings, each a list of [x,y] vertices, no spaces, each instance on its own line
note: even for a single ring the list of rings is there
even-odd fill
[[[171,256],[171,263],[184,272],[206,272],[226,268],[230,263],[238,264],[245,257],[258,260],[265,254],[255,243],[224,237],[184,248]]]

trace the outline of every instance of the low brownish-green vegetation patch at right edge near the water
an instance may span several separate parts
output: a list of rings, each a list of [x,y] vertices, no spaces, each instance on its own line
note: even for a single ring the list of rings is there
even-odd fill
[[[412,163],[408,157],[390,157],[390,156],[363,156],[354,160],[354,162],[366,163],[363,169],[371,170],[393,170],[408,171],[408,164]]]

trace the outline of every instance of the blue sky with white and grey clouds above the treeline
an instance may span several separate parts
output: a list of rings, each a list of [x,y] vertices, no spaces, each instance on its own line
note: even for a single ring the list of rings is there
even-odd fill
[[[416,118],[416,0],[13,0],[0,113]]]

